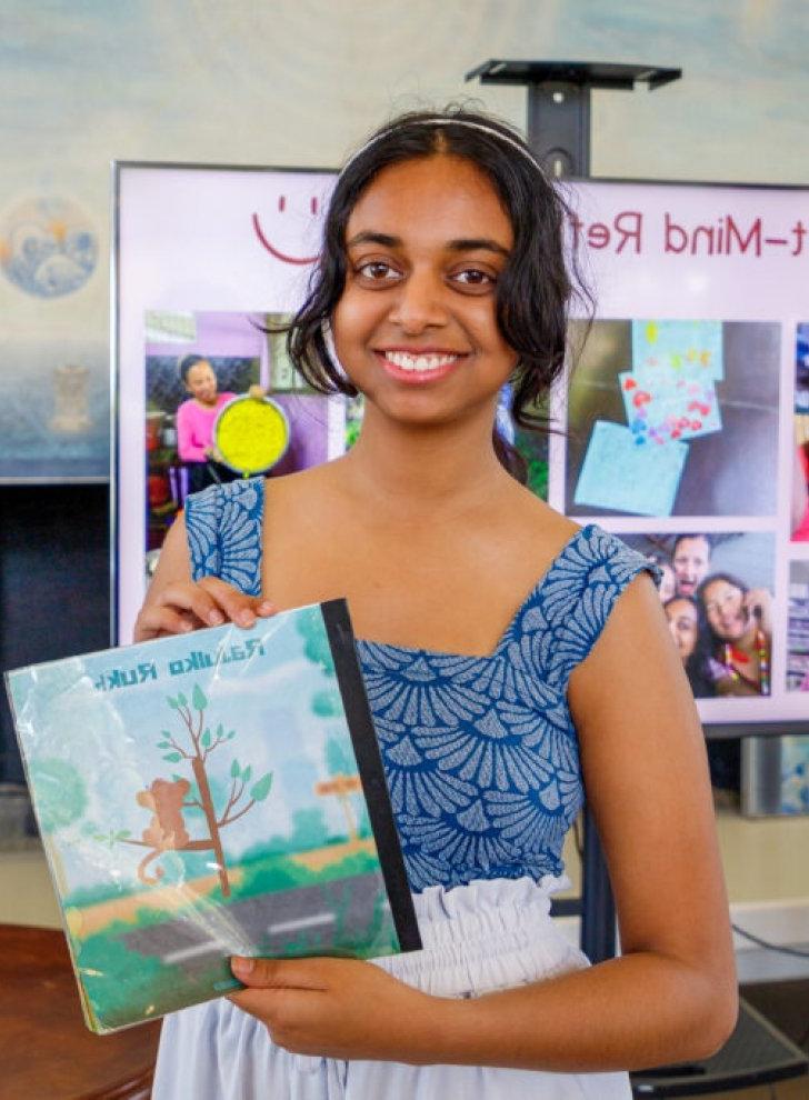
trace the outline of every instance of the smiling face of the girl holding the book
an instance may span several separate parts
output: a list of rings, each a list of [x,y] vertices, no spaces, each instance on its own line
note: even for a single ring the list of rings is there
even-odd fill
[[[517,364],[495,316],[512,244],[491,183],[458,157],[394,164],[360,197],[332,330],[349,378],[386,417],[493,417]]]

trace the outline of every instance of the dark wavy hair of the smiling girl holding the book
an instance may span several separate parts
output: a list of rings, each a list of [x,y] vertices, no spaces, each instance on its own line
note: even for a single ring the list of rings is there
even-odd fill
[[[401,114],[377,130],[348,161],[326,213],[322,249],[307,299],[287,330],[290,359],[313,389],[357,394],[329,353],[323,331],[346,284],[346,226],[379,172],[437,154],[460,157],[483,172],[511,221],[515,242],[498,280],[496,304],[498,328],[519,356],[510,411],[521,428],[549,430],[541,406],[565,367],[569,306],[579,299],[591,314],[592,299],[576,258],[570,266],[567,262],[570,210],[559,188],[546,179],[522,137],[487,114],[462,108]],[[516,449],[497,430],[493,442],[502,464],[525,481],[525,463]]]

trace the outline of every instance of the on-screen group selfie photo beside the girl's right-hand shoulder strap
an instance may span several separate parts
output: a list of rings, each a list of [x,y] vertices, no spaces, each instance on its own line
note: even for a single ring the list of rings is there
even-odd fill
[[[625,536],[662,570],[660,598],[697,698],[768,696],[772,536]]]

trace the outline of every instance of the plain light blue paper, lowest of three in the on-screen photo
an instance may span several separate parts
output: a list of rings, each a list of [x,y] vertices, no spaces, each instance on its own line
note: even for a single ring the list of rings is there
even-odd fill
[[[670,516],[688,444],[638,447],[629,428],[597,420],[587,446],[575,503],[638,516]]]

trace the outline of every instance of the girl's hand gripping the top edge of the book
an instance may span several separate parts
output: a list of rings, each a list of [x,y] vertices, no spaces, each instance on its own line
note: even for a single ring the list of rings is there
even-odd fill
[[[248,628],[257,618],[268,618],[274,611],[269,600],[246,596],[217,577],[203,577],[198,582],[173,580],[147,599],[134,622],[133,640],[149,641],[224,622]]]

